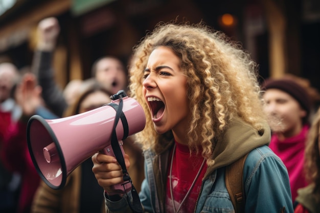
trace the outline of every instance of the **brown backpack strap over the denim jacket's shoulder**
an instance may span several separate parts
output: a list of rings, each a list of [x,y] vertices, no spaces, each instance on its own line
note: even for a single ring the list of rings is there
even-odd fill
[[[247,155],[248,153],[225,168],[225,186],[235,208],[235,213],[244,212],[243,165]]]

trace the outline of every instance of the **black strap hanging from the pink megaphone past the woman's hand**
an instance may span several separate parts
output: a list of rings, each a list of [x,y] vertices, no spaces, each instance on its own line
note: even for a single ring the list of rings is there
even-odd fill
[[[110,105],[111,107],[113,107],[113,109],[116,110],[115,125],[113,126],[113,130],[112,130],[112,134],[111,134],[111,147],[112,147],[113,153],[115,153],[115,156],[116,156],[119,164],[121,165],[122,173],[123,173],[123,180],[126,181],[126,183],[124,183],[124,184],[128,184],[128,182],[130,182],[130,184],[131,184],[132,204],[131,204],[129,197],[127,195],[128,204],[133,212],[141,213],[142,212],[141,201],[140,201],[138,192],[135,190],[135,187],[133,186],[132,180],[131,180],[129,173],[127,171],[124,157],[122,155],[122,151],[121,151],[121,148],[119,145],[117,132],[116,132],[116,127],[118,125],[119,119],[121,119],[121,122],[123,125],[123,138],[122,139],[127,138],[128,133],[129,133],[128,122],[127,122],[125,114],[122,111],[123,100],[122,100],[122,98],[120,98],[119,105],[117,105],[115,103],[109,103],[108,105]],[[127,194],[127,191],[125,190],[124,184],[123,184],[123,188],[124,188],[125,193]]]

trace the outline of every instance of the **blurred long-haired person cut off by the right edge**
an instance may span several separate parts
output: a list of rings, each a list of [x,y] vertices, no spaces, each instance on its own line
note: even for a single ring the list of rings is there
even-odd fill
[[[294,213],[317,213],[320,209],[320,108],[309,130],[304,166],[309,185],[298,190]]]

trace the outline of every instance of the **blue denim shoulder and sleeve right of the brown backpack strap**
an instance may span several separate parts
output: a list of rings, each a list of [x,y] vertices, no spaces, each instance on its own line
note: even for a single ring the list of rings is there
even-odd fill
[[[252,150],[243,168],[243,184],[246,209],[259,206],[265,212],[293,212],[290,183],[287,169],[281,159],[268,146]],[[268,195],[269,199],[265,199]],[[253,212],[253,211],[247,211]]]

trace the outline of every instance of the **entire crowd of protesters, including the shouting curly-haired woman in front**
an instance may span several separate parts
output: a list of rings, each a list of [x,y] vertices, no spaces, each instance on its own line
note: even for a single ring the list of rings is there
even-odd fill
[[[117,57],[101,56],[91,78],[74,79],[62,90],[52,60],[59,22],[45,18],[37,30],[30,70],[0,63],[1,212],[319,209],[320,109],[312,114],[317,106],[290,78],[260,83],[258,65],[222,32],[204,23],[159,23],[134,46],[129,70]],[[84,113],[110,103],[119,90],[146,115],[144,130],[123,145],[134,190],[114,191],[123,168],[101,152],[72,171],[63,188],[51,188],[28,150],[30,117]],[[234,174],[242,181],[238,208],[226,171],[242,159],[242,177]]]

